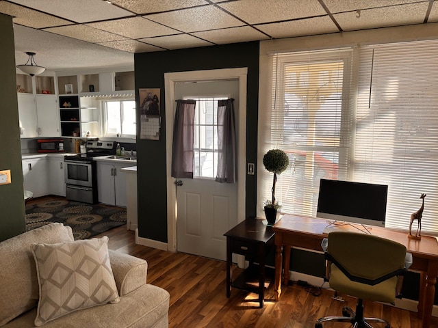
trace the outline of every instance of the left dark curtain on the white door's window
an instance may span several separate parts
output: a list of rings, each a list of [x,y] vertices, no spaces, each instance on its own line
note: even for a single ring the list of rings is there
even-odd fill
[[[172,176],[193,178],[195,100],[177,100],[172,143]]]

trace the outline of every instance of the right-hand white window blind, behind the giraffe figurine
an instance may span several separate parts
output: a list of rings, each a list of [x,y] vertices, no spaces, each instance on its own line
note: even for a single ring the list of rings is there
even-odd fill
[[[360,62],[353,180],[388,184],[390,228],[426,193],[422,232],[438,232],[438,42],[365,46]]]

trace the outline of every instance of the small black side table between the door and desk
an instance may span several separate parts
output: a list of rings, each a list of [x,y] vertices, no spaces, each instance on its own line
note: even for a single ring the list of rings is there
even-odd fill
[[[266,256],[274,249],[272,227],[267,226],[266,220],[248,218],[224,236],[227,236],[227,297],[231,295],[231,287],[255,292],[259,295],[260,308],[263,308]],[[250,262],[250,266],[235,281],[231,274],[233,253],[244,255]],[[250,278],[254,276],[258,278],[258,286],[250,284]]]

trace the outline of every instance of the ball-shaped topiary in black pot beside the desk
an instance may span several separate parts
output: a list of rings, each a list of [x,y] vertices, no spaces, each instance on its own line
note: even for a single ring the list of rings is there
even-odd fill
[[[268,170],[268,172],[272,172],[274,174],[274,181],[272,182],[272,199],[266,200],[264,202],[265,206],[265,215],[266,220],[268,220],[268,225],[273,225],[276,219],[276,211],[281,208],[279,202],[275,200],[275,184],[276,184],[276,175],[281,174],[287,166],[289,165],[289,157],[287,154],[283,152],[281,149],[271,149],[269,150],[265,156],[263,156],[263,165]]]

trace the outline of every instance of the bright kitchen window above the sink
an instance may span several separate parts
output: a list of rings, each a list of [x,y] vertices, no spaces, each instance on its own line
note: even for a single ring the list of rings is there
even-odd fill
[[[134,100],[103,101],[103,131],[106,136],[136,137],[136,102]]]

